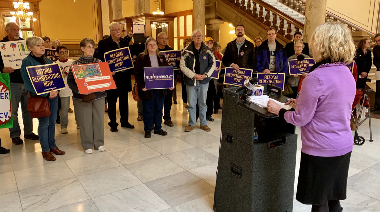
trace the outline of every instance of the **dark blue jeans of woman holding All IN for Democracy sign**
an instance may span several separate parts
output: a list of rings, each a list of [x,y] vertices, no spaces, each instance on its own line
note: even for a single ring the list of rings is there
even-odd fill
[[[153,124],[155,124],[155,131],[161,130],[162,108],[164,107],[165,96],[161,89],[152,90],[152,92],[153,98],[141,99],[145,132],[151,132]]]

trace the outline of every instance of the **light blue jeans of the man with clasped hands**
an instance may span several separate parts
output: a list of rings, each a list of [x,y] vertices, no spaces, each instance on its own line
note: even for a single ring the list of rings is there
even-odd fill
[[[191,86],[186,84],[187,96],[188,96],[188,114],[189,120],[188,125],[195,125],[196,121],[196,113],[197,113],[197,100],[199,106],[199,120],[201,125],[207,125],[206,121],[206,97],[208,90],[208,83],[201,84],[200,81],[197,80],[196,86]]]

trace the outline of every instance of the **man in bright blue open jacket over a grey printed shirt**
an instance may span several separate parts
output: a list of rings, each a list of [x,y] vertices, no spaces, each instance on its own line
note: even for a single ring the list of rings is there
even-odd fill
[[[257,72],[265,74],[276,73],[284,66],[288,60],[283,45],[276,40],[276,29],[270,27],[267,30],[267,40],[265,40],[257,49]],[[288,65],[282,69],[282,73],[287,73]]]

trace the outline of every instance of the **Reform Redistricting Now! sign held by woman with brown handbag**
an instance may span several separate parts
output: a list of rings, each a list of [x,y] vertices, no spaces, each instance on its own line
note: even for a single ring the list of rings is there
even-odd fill
[[[58,63],[26,67],[35,92],[40,95],[66,88]]]

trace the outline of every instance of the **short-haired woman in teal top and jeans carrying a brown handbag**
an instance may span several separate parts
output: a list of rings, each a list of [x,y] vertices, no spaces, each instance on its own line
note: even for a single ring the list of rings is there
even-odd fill
[[[45,54],[45,47],[44,47],[44,40],[41,37],[29,37],[26,39],[26,46],[31,51],[24,60],[22,60],[21,64],[21,76],[24,80],[25,87],[28,89],[31,96],[37,97],[45,97],[48,99],[49,102],[49,108],[51,111],[50,116],[47,117],[40,117],[39,120],[39,137],[40,137],[40,145],[42,149],[42,156],[48,160],[48,161],[55,161],[55,157],[52,155],[52,153],[56,155],[63,155],[65,154],[64,151],[61,151],[58,149],[58,147],[55,145],[55,121],[57,119],[57,113],[55,113],[58,110],[58,91],[51,90],[50,93],[44,93],[37,95],[35,93],[34,87],[30,81],[30,77],[28,75],[28,72],[26,70],[26,67],[29,66],[38,66],[38,65],[44,65],[44,64],[51,64],[53,61],[51,61],[48,58],[44,57]]]

